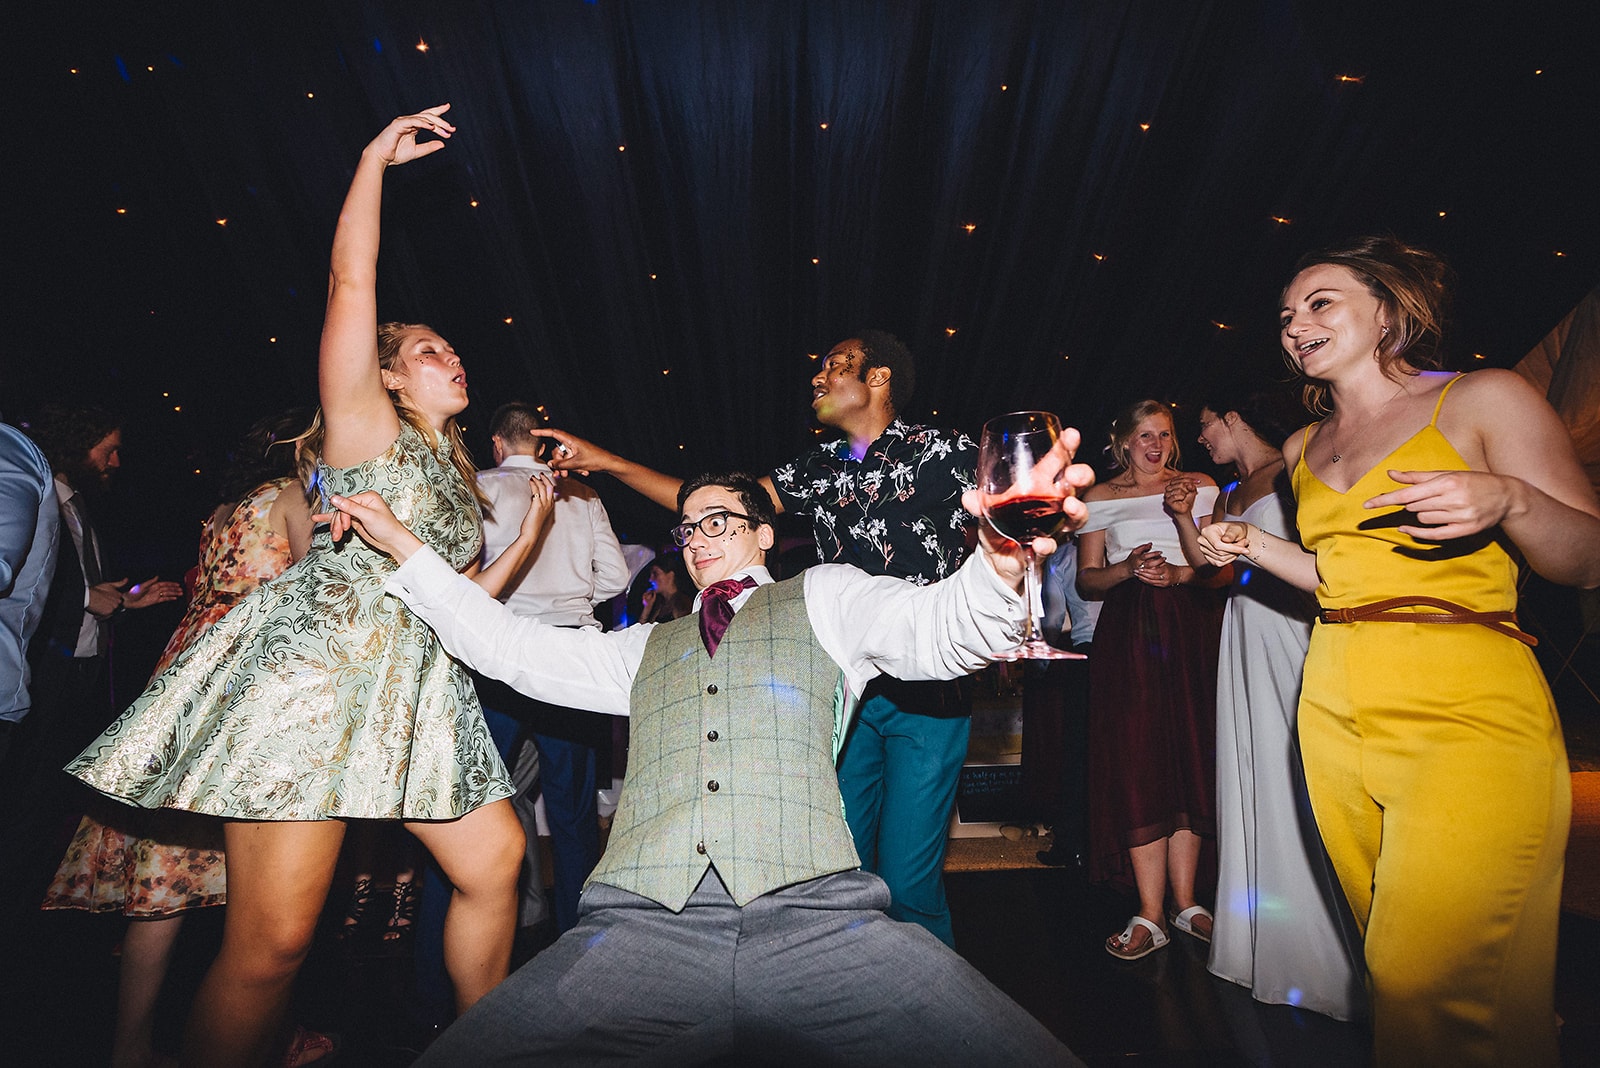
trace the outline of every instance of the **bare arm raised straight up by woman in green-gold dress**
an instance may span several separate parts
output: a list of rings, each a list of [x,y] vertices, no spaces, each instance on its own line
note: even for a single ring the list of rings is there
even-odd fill
[[[378,369],[378,230],[384,171],[432,155],[443,141],[418,144],[419,133],[450,137],[450,104],[394,120],[362,152],[339,211],[328,264],[328,310],[317,358],[317,390],[326,433],[323,456],[334,467],[368,460],[400,433],[400,417]]]

